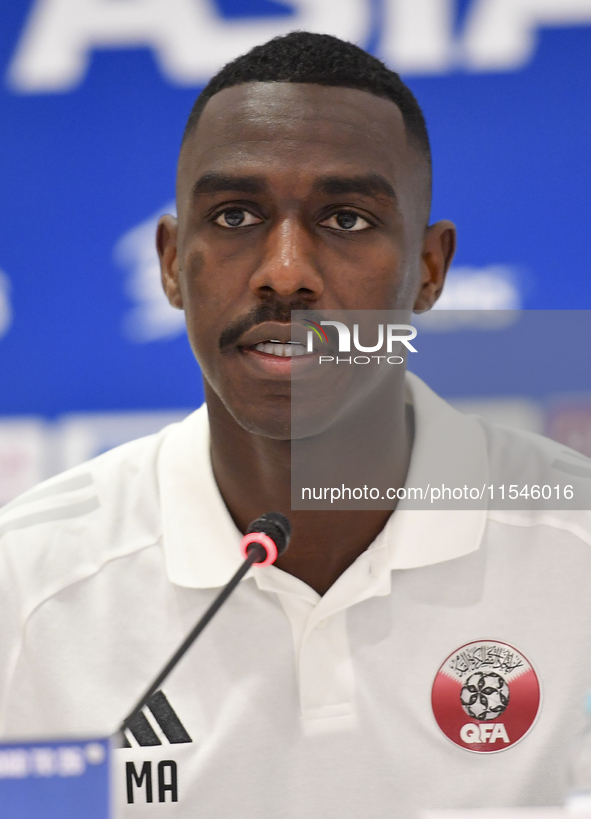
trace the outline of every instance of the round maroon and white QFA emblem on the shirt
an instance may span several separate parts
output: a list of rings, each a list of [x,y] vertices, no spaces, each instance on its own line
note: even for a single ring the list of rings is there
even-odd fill
[[[443,733],[467,751],[504,751],[527,734],[540,708],[540,683],[520,651],[497,640],[458,648],[431,692]]]

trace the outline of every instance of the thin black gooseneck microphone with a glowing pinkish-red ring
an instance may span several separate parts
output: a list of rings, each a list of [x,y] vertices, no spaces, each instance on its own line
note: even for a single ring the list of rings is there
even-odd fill
[[[277,560],[279,555],[283,554],[287,549],[290,538],[291,523],[281,512],[266,512],[264,515],[261,515],[260,518],[253,520],[246,530],[246,534],[240,541],[240,552],[244,558],[244,563],[224,586],[191,633],[186,637],[177,651],[175,651],[170,660],[166,663],[160,674],[158,674],[133,709],[125,717],[119,727],[121,737],[123,737],[124,731],[129,726],[129,723],[139,714],[152,695],[156,693],[179,660],[186,654],[197,637],[199,637],[205,626],[220,610],[250,567],[253,565],[270,566]]]

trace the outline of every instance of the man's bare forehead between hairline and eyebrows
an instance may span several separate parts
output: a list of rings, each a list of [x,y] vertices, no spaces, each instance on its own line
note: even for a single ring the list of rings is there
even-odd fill
[[[297,179],[302,189],[315,176],[373,172],[404,199],[416,192],[421,164],[390,100],[351,88],[247,83],[207,102],[181,151],[178,205],[207,172],[263,175],[271,185]]]

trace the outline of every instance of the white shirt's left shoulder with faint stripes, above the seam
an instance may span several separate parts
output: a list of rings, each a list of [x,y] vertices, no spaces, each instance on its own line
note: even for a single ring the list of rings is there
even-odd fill
[[[110,450],[3,507],[0,589],[10,586],[30,610],[111,561],[158,543],[158,461],[175,426]]]

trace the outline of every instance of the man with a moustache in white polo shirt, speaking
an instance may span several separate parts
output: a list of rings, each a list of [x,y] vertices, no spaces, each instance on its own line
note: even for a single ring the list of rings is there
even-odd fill
[[[207,411],[0,518],[13,737],[116,730],[238,567],[249,522],[292,521],[277,565],[240,584],[126,732],[125,816],[402,817],[562,799],[591,689],[588,515],[291,510],[291,311],[428,310],[455,245],[450,222],[429,225],[429,196],[414,97],[332,37],[256,48],[195,105],[178,220],[161,220],[157,244]],[[407,387],[375,464],[396,491],[458,453],[483,483],[503,458],[541,483],[588,478],[574,453],[461,416],[416,378]],[[328,435],[340,423],[325,421]]]

